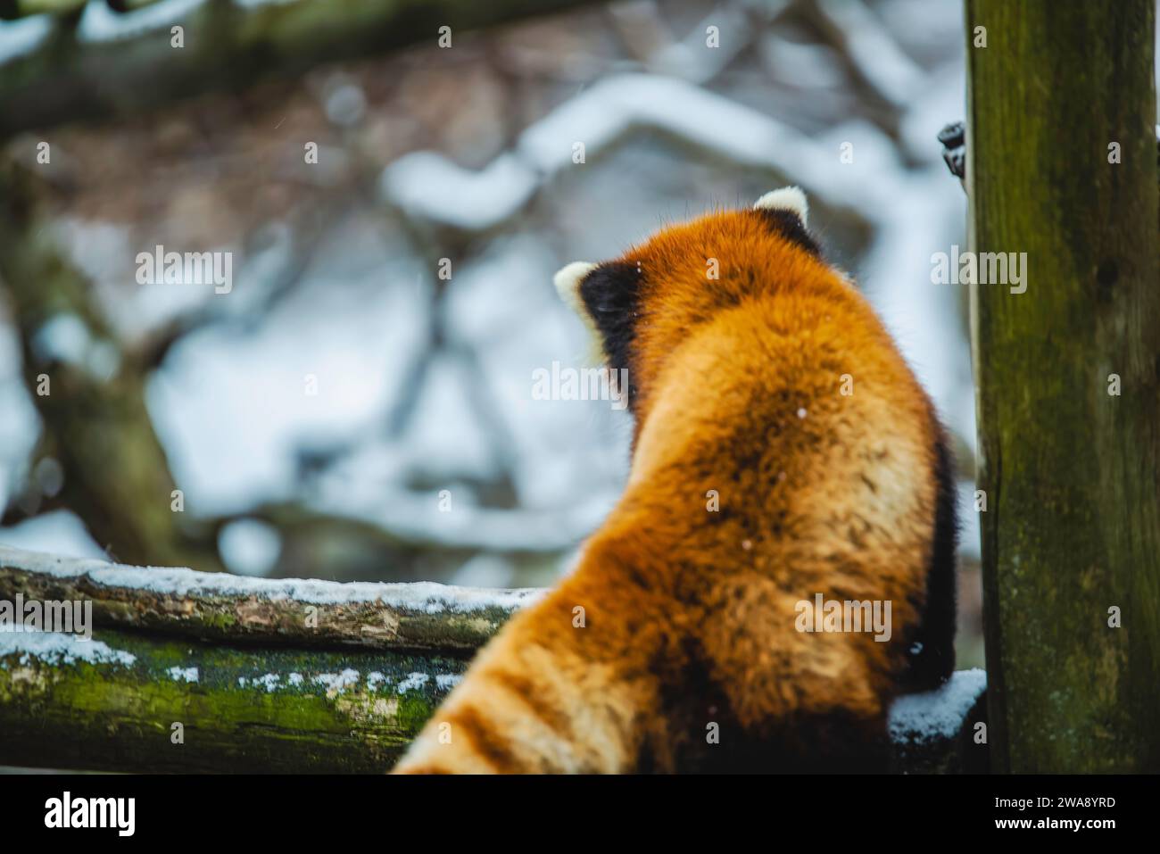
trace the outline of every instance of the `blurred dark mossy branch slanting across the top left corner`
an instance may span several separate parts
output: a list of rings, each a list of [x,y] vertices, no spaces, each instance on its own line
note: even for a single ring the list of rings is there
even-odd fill
[[[239,7],[206,0],[183,19],[108,41],[79,36],[80,9],[66,9],[36,49],[0,65],[0,138],[144,111],[205,92],[245,89],[423,39],[435,43],[441,27],[451,28],[454,48],[459,30],[580,2],[292,0]],[[171,24],[183,28],[184,46],[172,46]]]

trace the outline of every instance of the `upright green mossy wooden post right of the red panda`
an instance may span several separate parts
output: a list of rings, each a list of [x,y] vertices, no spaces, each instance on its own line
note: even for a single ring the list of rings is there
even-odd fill
[[[1154,16],[966,2],[971,248],[1027,253],[972,285],[995,770],[1160,769]]]

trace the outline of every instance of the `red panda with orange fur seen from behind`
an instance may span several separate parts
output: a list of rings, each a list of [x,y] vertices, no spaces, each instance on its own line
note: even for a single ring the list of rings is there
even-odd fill
[[[557,274],[628,369],[629,480],[397,773],[886,769],[890,702],[954,667],[951,462],[806,214],[788,187]],[[803,630],[819,596],[890,627]]]

